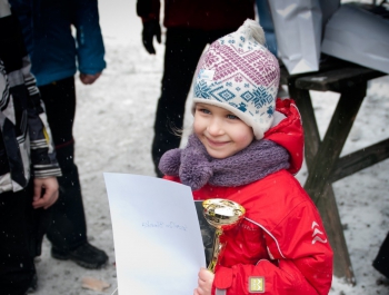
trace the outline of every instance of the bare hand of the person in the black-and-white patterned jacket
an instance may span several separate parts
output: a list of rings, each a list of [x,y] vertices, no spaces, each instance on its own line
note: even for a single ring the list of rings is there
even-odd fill
[[[49,208],[58,199],[58,181],[56,177],[34,178],[33,179],[33,199],[34,209],[43,207]]]

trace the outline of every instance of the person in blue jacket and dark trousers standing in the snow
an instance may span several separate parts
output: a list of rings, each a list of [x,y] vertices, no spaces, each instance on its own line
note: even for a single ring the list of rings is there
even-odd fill
[[[31,57],[31,71],[46,105],[62,170],[60,195],[47,237],[51,256],[71,259],[87,268],[108,260],[103,250],[89,244],[78,168],[74,164],[74,75],[93,83],[106,68],[97,0],[10,0]],[[72,36],[76,29],[76,39]]]

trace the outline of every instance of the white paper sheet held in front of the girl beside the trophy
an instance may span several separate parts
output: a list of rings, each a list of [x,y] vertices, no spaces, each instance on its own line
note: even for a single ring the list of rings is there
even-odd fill
[[[154,177],[104,173],[118,293],[188,295],[206,258],[189,187]]]

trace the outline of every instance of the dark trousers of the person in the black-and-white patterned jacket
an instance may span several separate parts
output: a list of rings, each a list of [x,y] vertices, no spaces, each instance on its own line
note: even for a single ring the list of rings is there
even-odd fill
[[[33,209],[32,194],[31,184],[0,194],[0,294],[24,295],[36,273],[50,209]]]

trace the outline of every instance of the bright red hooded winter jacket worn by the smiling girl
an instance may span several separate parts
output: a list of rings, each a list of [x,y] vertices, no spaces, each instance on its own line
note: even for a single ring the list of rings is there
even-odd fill
[[[227,246],[216,267],[212,294],[216,288],[226,289],[227,295],[329,293],[332,250],[315,204],[291,175],[302,163],[300,116],[292,100],[278,100],[277,110],[287,118],[265,138],[288,149],[289,171],[240,187],[206,185],[193,191],[196,200],[226,198],[246,208],[240,226],[220,237]]]

